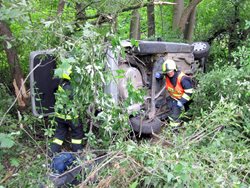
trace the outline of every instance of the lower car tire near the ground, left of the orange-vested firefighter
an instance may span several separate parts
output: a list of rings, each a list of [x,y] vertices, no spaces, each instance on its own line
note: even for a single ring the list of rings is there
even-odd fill
[[[152,120],[141,121],[140,116],[135,116],[130,118],[130,122],[134,132],[147,135],[160,132],[162,126],[161,120],[157,117]]]

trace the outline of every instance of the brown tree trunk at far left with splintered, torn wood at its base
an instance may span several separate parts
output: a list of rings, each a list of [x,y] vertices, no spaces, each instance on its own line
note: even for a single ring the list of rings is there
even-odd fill
[[[11,46],[11,40],[13,39],[11,30],[4,21],[0,21],[0,36],[4,37],[2,45],[6,53],[8,63],[11,67],[13,86],[15,88],[18,105],[21,109],[24,109],[27,105],[27,99],[29,96],[27,95],[23,82],[23,73],[19,64],[17,51],[15,47]]]

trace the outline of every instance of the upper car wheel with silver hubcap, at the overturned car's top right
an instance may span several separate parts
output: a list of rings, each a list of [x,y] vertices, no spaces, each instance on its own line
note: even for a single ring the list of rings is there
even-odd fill
[[[194,47],[193,54],[195,59],[200,59],[208,55],[210,45],[207,42],[194,42],[192,46]]]

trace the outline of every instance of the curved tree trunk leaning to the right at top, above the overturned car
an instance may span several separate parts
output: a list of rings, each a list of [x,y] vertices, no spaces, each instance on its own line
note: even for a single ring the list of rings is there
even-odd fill
[[[185,8],[181,15],[181,19],[179,22],[179,28],[182,32],[184,32],[185,25],[188,21],[188,18],[191,14],[191,12],[194,10],[194,8],[201,2],[202,0],[192,0],[189,5]]]

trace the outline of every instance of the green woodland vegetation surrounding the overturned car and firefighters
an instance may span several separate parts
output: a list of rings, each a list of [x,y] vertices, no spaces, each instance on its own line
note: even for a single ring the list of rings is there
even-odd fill
[[[54,127],[32,115],[29,94],[29,54],[51,48],[74,49],[86,156],[103,150],[111,163],[79,187],[249,187],[249,10],[247,0],[0,0],[0,187],[51,186]],[[110,80],[103,49],[128,38],[211,45],[185,131],[128,138],[123,104],[111,107],[100,88]],[[104,109],[100,119],[86,113],[90,103]],[[89,128],[96,121],[98,132]]]

